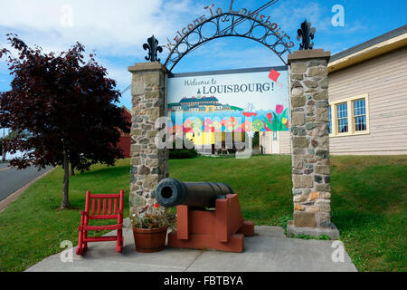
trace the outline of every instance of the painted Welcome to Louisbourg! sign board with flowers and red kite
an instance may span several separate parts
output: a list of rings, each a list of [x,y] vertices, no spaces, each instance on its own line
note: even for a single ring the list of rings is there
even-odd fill
[[[175,133],[289,131],[287,67],[168,78],[168,116]]]

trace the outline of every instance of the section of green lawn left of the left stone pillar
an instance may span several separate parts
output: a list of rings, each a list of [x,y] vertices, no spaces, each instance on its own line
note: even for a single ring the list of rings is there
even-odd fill
[[[129,160],[119,160],[116,165],[92,166],[90,172],[71,177],[70,202],[77,210],[57,210],[62,201],[61,168],[35,182],[5,208],[0,213],[0,271],[22,271],[60,252],[63,240],[76,245],[86,190],[114,193],[125,189],[124,214],[128,216]]]

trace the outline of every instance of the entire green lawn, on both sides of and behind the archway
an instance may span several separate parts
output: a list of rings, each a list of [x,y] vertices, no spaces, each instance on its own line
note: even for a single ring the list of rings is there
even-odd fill
[[[243,216],[257,225],[285,226],[292,218],[289,156],[170,160],[170,175],[184,181],[226,182],[239,193]],[[332,221],[360,271],[406,271],[407,156],[332,157]],[[129,188],[129,160],[94,166],[71,178],[73,207],[87,189]],[[62,169],[55,169],[0,214],[0,271],[21,271],[78,238],[79,209],[57,211]],[[128,202],[128,198],[126,198]],[[128,215],[128,203],[125,205]]]

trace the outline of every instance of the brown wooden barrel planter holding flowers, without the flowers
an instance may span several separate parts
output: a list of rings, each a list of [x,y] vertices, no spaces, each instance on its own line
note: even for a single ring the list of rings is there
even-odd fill
[[[136,251],[142,253],[154,253],[164,249],[166,246],[166,229],[167,227],[133,227]]]

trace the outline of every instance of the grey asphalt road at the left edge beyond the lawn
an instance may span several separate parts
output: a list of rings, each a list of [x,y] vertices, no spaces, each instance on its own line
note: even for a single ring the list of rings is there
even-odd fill
[[[8,168],[8,164],[0,163],[0,200],[7,198],[15,190],[23,188],[31,180],[36,179],[50,169],[52,169],[51,166],[40,171],[37,171],[34,167],[18,170]]]

